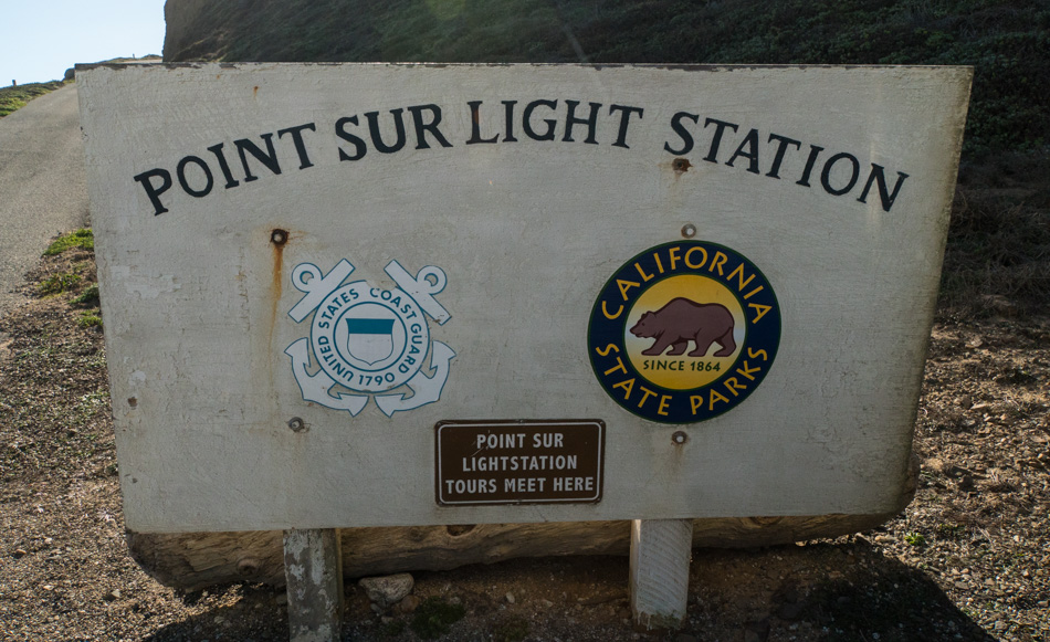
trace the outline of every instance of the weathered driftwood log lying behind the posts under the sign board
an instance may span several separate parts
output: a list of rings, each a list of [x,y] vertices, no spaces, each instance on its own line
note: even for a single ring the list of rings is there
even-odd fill
[[[893,513],[813,517],[696,519],[694,547],[747,548],[838,537],[875,528],[912,501],[918,462]],[[284,585],[281,530],[250,533],[127,534],[132,556],[161,583],[186,590],[232,581]],[[410,570],[447,570],[518,557],[627,555],[629,522],[482,524],[344,528],[347,578]]]

